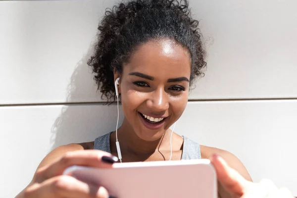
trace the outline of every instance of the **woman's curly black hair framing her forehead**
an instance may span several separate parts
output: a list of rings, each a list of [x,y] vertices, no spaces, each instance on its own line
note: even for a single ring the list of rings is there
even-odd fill
[[[128,0],[105,10],[99,23],[98,43],[88,61],[101,98],[115,100],[113,70],[122,72],[133,51],[149,40],[169,38],[191,55],[190,85],[203,75],[206,66],[198,21],[191,15],[188,0]]]

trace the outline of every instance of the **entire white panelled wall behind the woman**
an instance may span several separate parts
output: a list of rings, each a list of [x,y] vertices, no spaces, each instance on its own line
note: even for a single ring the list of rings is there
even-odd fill
[[[114,2],[0,1],[0,198],[25,187],[52,148],[114,130],[115,106],[100,103],[86,64]],[[190,2],[208,68],[176,131],[297,196],[297,1]]]

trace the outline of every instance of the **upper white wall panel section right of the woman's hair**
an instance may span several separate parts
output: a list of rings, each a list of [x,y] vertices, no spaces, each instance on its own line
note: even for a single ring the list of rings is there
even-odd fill
[[[191,98],[297,98],[296,0],[192,0],[209,46]]]

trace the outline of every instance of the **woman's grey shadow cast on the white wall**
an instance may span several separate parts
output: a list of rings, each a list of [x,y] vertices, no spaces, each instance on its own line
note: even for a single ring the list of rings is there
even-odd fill
[[[116,128],[116,104],[105,105],[93,79],[87,61],[93,55],[93,45],[75,66],[68,85],[67,102],[51,127],[51,149],[70,143],[91,142]],[[86,101],[93,99],[93,101]],[[77,101],[92,103],[75,103]],[[73,103],[73,104],[71,104]],[[120,123],[123,113],[120,108]],[[120,124],[119,123],[119,124]]]

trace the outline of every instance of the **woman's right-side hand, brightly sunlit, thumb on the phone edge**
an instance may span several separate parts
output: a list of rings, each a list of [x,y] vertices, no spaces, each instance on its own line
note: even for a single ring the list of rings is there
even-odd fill
[[[211,162],[218,181],[233,198],[293,198],[288,189],[278,189],[270,180],[263,179],[260,183],[247,181],[218,155],[213,155]]]

